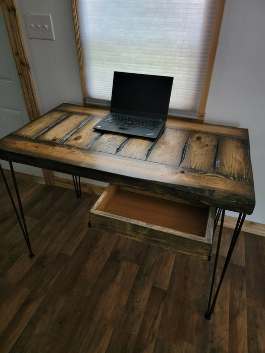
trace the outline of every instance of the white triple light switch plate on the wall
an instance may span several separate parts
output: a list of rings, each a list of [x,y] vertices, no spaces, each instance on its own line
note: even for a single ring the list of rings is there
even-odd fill
[[[25,14],[29,38],[55,40],[51,15]]]

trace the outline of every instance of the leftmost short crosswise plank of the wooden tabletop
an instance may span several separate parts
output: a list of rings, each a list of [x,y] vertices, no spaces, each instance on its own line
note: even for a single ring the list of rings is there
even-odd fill
[[[38,119],[34,120],[30,124],[27,124],[21,129],[15,131],[13,134],[34,139],[39,134],[48,129],[49,126],[57,124],[62,119],[65,119],[65,117],[67,117],[68,115],[69,113],[65,113],[64,111],[51,110],[48,113],[39,117]]]

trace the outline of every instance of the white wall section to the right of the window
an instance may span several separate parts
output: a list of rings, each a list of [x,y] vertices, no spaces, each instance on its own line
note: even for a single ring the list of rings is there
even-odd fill
[[[205,118],[249,129],[256,206],[246,219],[259,223],[265,223],[264,16],[263,0],[226,1]]]

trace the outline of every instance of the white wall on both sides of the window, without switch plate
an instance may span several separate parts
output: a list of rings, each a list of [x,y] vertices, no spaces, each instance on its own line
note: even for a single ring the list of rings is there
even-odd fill
[[[62,102],[82,105],[71,0],[17,0],[17,7],[41,113]],[[25,12],[51,13],[56,40],[29,39]],[[226,1],[205,118],[249,129],[256,208],[247,219],[260,223],[265,223],[264,15],[263,0]]]

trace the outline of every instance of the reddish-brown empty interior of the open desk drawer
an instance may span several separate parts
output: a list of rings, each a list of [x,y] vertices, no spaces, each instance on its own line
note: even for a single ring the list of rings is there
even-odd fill
[[[145,195],[121,186],[100,203],[97,210],[183,233],[206,237],[208,207],[198,207],[157,196]]]

